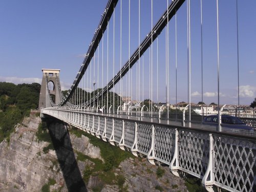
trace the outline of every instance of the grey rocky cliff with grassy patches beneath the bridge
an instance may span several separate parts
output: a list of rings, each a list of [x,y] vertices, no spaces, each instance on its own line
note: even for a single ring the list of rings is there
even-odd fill
[[[47,121],[49,142],[38,139],[40,122],[39,117],[25,118],[9,142],[0,143],[0,191],[187,191],[168,167],[146,159],[111,164],[118,160],[103,156],[89,135],[74,134],[55,119]]]

